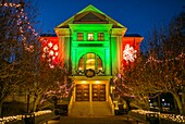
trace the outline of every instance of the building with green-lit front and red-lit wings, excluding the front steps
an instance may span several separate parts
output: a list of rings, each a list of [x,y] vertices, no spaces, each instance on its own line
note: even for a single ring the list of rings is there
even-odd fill
[[[58,25],[55,35],[41,35],[42,59],[48,57],[51,67],[60,64],[72,71],[74,102],[109,101],[110,79],[134,62],[143,40],[125,35],[126,29],[89,4]]]

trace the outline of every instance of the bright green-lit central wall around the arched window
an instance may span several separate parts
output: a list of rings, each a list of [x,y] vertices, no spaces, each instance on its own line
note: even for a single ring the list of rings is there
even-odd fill
[[[106,71],[106,75],[111,75],[110,66],[110,29],[112,24],[70,24],[71,36],[72,36],[72,71],[73,74],[78,70],[78,61],[86,53],[95,53],[102,60],[102,66]],[[77,33],[84,34],[84,40],[77,40]],[[94,34],[94,40],[87,40],[87,34]],[[98,40],[98,33],[104,34],[104,40]]]

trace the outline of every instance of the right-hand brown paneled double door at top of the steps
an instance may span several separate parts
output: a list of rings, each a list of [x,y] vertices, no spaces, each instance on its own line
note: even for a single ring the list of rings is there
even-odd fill
[[[92,101],[106,101],[106,84],[91,85]]]

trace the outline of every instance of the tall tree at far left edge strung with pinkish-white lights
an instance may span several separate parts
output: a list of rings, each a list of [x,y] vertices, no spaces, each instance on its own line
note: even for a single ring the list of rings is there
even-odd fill
[[[5,98],[18,89],[35,67],[37,34],[23,0],[0,0],[0,113]]]

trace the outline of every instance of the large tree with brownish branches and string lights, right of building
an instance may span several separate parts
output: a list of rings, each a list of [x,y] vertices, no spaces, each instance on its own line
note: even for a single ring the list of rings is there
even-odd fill
[[[147,53],[137,58],[132,67],[121,74],[122,92],[133,96],[144,109],[151,95],[171,92],[180,113],[185,112],[185,12],[175,17],[168,29],[153,32]],[[116,83],[119,84],[119,83]],[[123,94],[123,96],[125,96]],[[141,106],[143,104],[143,106]]]

